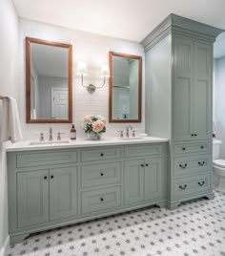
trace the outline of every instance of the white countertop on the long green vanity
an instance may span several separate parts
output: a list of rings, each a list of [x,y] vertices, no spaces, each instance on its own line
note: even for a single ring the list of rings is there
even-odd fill
[[[31,141],[19,141],[16,143],[10,143],[6,147],[7,152],[16,151],[31,151],[31,150],[47,150],[47,149],[67,149],[67,148],[81,148],[81,147],[98,147],[98,146],[116,146],[116,145],[127,145],[127,144],[141,144],[141,143],[160,143],[167,142],[168,139],[146,137],[143,139],[115,139],[107,138],[101,140],[90,140],[90,139],[76,139],[70,140],[70,143],[60,144],[38,144],[31,145]]]

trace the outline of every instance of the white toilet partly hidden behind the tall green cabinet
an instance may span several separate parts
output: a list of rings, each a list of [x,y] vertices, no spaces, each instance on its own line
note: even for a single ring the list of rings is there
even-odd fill
[[[225,193],[225,160],[219,160],[219,149],[222,141],[213,140],[213,162],[216,181],[216,189]]]

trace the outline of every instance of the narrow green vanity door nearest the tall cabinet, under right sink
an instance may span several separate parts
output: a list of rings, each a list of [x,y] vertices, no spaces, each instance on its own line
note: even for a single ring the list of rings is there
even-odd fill
[[[162,196],[162,159],[145,160],[145,200]]]

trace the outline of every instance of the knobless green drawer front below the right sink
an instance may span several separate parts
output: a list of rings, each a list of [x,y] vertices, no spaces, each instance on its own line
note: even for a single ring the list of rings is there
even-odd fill
[[[163,146],[160,144],[139,144],[124,147],[125,157],[154,156],[161,155]]]

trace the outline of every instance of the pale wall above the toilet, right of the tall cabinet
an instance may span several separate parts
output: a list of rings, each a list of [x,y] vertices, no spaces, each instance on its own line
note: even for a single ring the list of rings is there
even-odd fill
[[[214,129],[216,139],[222,140],[220,158],[225,159],[225,56],[215,59]]]

